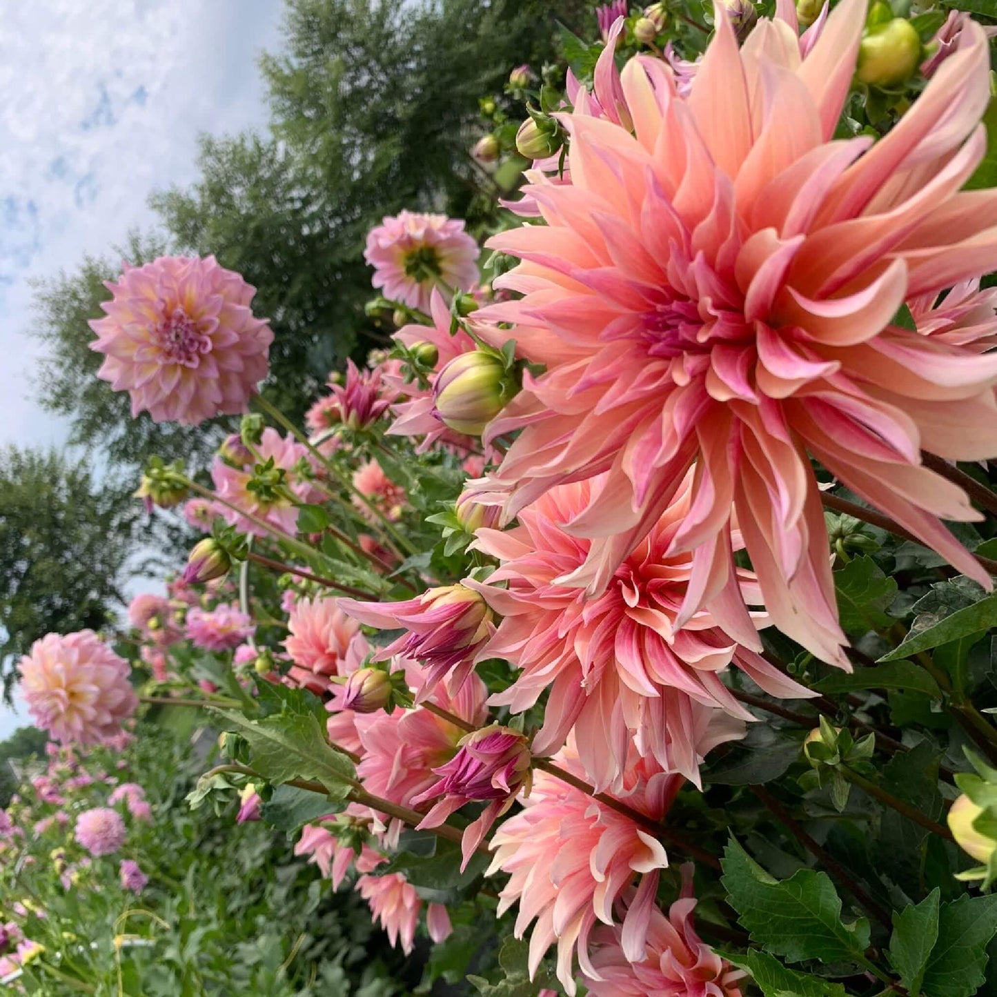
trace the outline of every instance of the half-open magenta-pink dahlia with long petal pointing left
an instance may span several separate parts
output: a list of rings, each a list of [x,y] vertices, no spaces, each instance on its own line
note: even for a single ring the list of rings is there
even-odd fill
[[[378,652],[377,660],[401,654],[425,665],[419,699],[451,674],[453,687],[460,689],[495,629],[488,603],[463,584],[430,588],[403,602],[340,599],[339,604],[346,613],[368,626],[381,630],[405,628],[406,633]]]

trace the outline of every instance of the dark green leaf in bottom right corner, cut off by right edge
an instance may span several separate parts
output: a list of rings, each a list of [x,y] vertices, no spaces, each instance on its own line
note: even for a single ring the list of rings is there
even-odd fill
[[[987,944],[997,933],[997,895],[960,896],[944,903],[938,940],[928,958],[924,997],[970,997],[984,980]]]

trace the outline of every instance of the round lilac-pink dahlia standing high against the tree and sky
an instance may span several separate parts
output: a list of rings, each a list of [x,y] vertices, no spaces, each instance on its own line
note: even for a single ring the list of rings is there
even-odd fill
[[[90,327],[105,355],[97,376],[132,396],[132,415],[195,426],[246,411],[266,377],[273,332],[253,318],[255,288],[204,259],[161,256],[125,265],[107,312]]]

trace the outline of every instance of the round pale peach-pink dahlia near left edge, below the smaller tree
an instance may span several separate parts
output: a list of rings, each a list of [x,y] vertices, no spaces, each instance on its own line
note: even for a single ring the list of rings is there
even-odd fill
[[[139,705],[129,663],[93,630],[36,640],[18,671],[32,719],[64,743],[107,742]]]

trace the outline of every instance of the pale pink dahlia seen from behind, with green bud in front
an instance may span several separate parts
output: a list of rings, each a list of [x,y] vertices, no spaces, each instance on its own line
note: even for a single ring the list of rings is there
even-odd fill
[[[315,471],[314,459],[308,451],[290,437],[282,437],[275,429],[267,427],[263,430],[259,446],[256,448],[261,463],[273,459],[276,469],[283,469],[284,485],[299,501],[311,502],[321,499],[322,493],[315,487],[307,474],[301,474],[301,469],[307,467]],[[217,490],[218,498],[223,498],[229,504],[250,515],[273,524],[285,532],[296,532],[298,510],[290,498],[261,498],[250,492],[253,467],[245,470],[233,468],[220,458],[215,458],[211,465],[211,479]],[[257,526],[244,515],[239,515],[226,505],[219,507],[219,512],[225,521],[242,532],[254,536],[265,536],[266,530]]]

